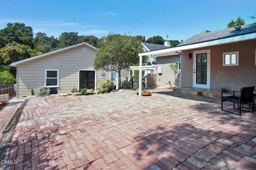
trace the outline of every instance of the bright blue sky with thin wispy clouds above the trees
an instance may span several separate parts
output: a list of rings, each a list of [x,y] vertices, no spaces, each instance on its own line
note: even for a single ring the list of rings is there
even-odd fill
[[[224,29],[241,16],[256,22],[254,0],[222,1],[82,1],[0,0],[0,28],[7,22],[23,22],[48,36],[77,31],[79,35],[105,36],[111,32],[160,35],[164,39],[186,40],[202,30]]]

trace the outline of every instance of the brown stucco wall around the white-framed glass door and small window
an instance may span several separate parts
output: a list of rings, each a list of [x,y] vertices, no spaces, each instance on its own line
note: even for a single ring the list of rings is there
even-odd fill
[[[225,87],[232,91],[246,86],[256,86],[256,40],[250,40],[182,51],[181,87],[193,87],[193,58],[189,60],[188,53],[193,54],[193,51],[203,49],[211,50],[210,89],[220,90]],[[226,52],[239,52],[238,66],[223,66],[223,53]]]

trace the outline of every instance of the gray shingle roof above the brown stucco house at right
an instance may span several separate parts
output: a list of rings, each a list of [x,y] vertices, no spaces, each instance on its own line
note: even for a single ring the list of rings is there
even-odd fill
[[[228,38],[228,37],[235,37],[235,36],[245,35],[247,33],[253,33],[253,32],[256,32],[256,22],[251,24],[241,25],[241,29],[238,31],[236,31],[235,27],[232,27],[232,28],[227,28],[223,30],[199,33],[187,39],[186,41],[179,44],[178,46],[202,43],[205,41],[211,41],[211,40]]]

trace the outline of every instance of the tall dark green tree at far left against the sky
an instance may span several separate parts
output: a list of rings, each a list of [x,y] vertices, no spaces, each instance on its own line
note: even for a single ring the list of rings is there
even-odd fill
[[[0,48],[8,43],[16,42],[33,48],[33,29],[25,23],[7,23],[7,27],[0,30]]]

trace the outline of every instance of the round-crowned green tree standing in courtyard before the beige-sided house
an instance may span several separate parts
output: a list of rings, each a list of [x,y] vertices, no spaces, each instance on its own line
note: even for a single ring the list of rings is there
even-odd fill
[[[94,59],[94,69],[118,72],[120,88],[121,70],[139,63],[138,53],[143,52],[140,41],[131,36],[110,33],[100,46]]]

